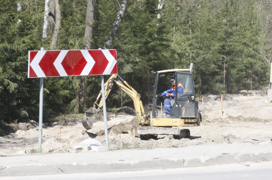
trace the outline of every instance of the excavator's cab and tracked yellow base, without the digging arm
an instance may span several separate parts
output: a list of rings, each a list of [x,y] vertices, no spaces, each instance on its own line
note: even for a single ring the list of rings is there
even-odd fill
[[[190,69],[152,71],[152,74],[156,75],[155,85],[152,87],[152,113],[145,123],[148,126],[137,128],[141,139],[154,138],[157,134],[173,134],[177,139],[190,138],[190,130],[182,126],[199,126],[202,121]],[[175,78],[175,96],[170,99],[170,116],[166,116],[163,106],[158,103],[157,95],[170,88],[169,80],[172,77]],[[163,102],[164,97],[160,98]]]

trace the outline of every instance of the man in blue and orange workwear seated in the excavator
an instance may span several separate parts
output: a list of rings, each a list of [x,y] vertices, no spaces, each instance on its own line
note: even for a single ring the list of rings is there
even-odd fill
[[[171,100],[174,100],[175,97],[175,77],[172,77],[170,79],[171,81],[171,87],[170,89],[162,92],[160,95],[158,95],[158,97],[163,97],[163,96],[168,96],[168,98],[166,98],[164,100],[164,113],[165,116],[170,116],[170,111],[171,111]],[[181,83],[178,83],[178,95],[183,94],[184,93],[184,88],[183,85]]]

